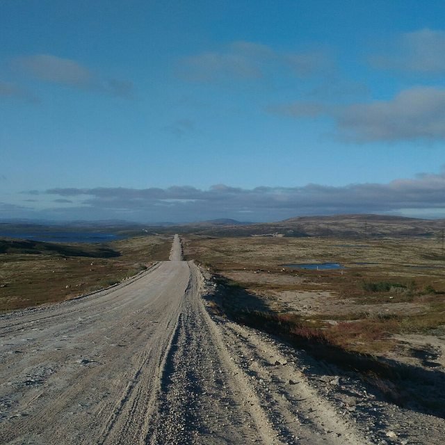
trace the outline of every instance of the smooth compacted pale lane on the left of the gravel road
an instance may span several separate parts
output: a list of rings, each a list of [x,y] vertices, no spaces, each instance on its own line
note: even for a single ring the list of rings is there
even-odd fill
[[[143,444],[189,275],[0,316],[1,443]]]

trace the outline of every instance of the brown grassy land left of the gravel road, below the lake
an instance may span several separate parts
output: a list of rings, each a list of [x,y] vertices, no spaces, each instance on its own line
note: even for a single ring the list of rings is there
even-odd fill
[[[0,240],[0,311],[68,300],[168,259],[170,236],[105,244]]]

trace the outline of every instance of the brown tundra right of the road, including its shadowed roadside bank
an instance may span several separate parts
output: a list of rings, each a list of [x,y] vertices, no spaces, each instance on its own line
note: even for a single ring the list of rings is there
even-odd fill
[[[208,298],[217,314],[357,371],[399,405],[444,415],[431,391],[444,373],[414,366],[415,348],[395,337],[444,332],[445,270],[435,240],[188,236],[184,253],[213,274]],[[323,262],[346,268],[282,266]]]

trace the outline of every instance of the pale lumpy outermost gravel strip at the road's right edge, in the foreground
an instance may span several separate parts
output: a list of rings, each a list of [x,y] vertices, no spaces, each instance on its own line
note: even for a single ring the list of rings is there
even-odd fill
[[[256,382],[260,403],[284,442],[366,443],[352,422],[310,387],[298,366],[259,334],[227,321],[220,323],[220,329],[238,366]]]

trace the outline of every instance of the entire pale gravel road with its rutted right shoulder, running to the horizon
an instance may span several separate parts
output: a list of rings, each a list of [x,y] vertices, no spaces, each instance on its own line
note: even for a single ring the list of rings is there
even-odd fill
[[[132,280],[0,316],[1,444],[404,443],[312,385],[305,359],[210,316],[181,258],[175,236]]]

